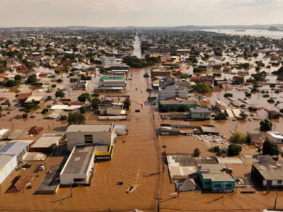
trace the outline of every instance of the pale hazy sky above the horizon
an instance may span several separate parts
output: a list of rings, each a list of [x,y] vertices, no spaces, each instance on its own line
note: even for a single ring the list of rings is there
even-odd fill
[[[282,14],[283,0],[1,0],[0,27],[253,25]]]

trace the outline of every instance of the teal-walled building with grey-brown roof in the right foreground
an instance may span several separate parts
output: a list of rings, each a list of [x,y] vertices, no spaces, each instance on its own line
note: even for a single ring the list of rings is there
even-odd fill
[[[203,189],[224,189],[233,192],[236,186],[235,179],[226,172],[224,164],[201,164],[197,165],[197,177],[200,179]]]

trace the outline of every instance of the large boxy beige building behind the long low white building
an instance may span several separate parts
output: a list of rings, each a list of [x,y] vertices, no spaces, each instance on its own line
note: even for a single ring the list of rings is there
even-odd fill
[[[116,139],[114,124],[70,125],[66,131],[67,148],[71,151],[76,143],[107,144],[112,148]]]

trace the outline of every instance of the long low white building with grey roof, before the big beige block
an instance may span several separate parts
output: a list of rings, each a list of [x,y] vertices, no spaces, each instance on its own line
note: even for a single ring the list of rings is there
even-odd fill
[[[61,184],[88,184],[93,172],[95,145],[77,144],[60,173]]]

